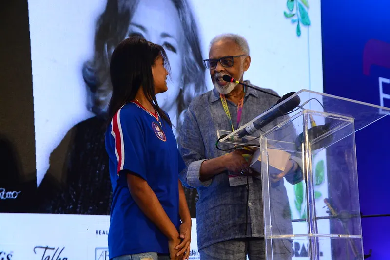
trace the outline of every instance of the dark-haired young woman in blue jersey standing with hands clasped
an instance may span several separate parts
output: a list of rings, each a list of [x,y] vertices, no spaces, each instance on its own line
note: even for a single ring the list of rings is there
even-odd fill
[[[185,165],[170,118],[156,100],[168,89],[165,62],[164,49],[140,37],[119,43],[111,57],[106,150],[113,260],[189,257],[191,217],[179,181]]]

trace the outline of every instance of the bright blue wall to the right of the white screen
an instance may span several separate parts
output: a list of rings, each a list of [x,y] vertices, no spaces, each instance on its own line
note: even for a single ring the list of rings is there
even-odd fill
[[[322,0],[321,16],[324,92],[380,105],[379,77],[390,79],[390,0]],[[389,147],[390,116],[356,133],[364,215],[390,213]],[[362,226],[365,254],[389,260],[390,217],[364,218]]]

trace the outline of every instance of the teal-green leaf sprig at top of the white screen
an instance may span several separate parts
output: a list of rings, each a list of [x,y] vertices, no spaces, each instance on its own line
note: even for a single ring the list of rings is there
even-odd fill
[[[308,15],[309,4],[308,0],[287,0],[287,9],[284,11],[284,16],[291,19],[292,23],[296,24],[296,35],[301,36],[301,23],[305,26],[310,26],[310,19]]]

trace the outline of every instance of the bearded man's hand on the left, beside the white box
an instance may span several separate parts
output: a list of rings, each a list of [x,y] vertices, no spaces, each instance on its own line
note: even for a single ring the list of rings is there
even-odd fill
[[[225,156],[225,167],[229,172],[234,172],[236,174],[241,175],[256,175],[254,171],[249,168],[249,163],[243,155],[252,155],[254,151],[245,150],[245,149],[237,149],[231,153],[228,153]],[[250,161],[252,156],[249,157],[248,161]]]

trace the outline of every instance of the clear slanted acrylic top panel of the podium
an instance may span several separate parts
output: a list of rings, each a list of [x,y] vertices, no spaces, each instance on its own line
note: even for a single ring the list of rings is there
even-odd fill
[[[387,107],[311,90],[300,90],[270,109],[259,111],[261,114],[239,129],[228,134],[220,141],[223,142],[227,140],[229,137],[237,134],[254,122],[272,118],[273,120],[269,121],[269,124],[271,124],[276,119],[276,117],[274,117],[275,114],[283,115],[280,114],[280,111],[283,111],[284,115],[289,115],[290,118],[298,113],[302,113],[302,111],[312,111],[326,113],[331,116],[351,118],[354,121],[355,131],[361,130],[390,114],[390,108]]]

